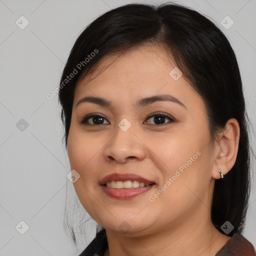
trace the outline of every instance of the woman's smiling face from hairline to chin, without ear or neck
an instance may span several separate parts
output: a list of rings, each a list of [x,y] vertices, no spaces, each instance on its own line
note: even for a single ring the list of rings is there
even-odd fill
[[[81,204],[106,230],[127,235],[200,221],[214,184],[203,99],[160,47],[114,59],[102,58],[104,71],[75,88],[67,151]]]

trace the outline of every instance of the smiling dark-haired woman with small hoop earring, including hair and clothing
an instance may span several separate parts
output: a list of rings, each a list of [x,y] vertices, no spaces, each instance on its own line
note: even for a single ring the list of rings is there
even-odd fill
[[[75,192],[101,227],[80,255],[255,255],[241,78],[209,19],[172,3],[102,14],[59,101]]]

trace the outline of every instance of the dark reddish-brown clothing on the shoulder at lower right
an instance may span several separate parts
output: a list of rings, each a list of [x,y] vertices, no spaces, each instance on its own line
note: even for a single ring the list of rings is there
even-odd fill
[[[240,233],[234,233],[215,256],[255,256],[253,245]]]

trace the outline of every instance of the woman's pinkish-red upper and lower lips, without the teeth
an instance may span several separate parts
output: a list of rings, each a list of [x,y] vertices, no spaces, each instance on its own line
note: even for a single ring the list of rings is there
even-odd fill
[[[111,188],[104,186],[107,182],[110,182],[111,180],[119,180],[119,181],[126,181],[126,180],[137,180],[138,182],[143,182],[145,184],[148,184],[149,186],[144,187],[134,187],[134,188]],[[151,184],[151,185],[150,185]],[[148,180],[146,178],[143,178],[137,174],[133,173],[112,173],[110,175],[107,175],[102,178],[100,181],[100,187],[103,190],[104,193],[107,195],[116,198],[116,199],[131,199],[134,196],[137,196],[139,194],[142,194],[152,187],[155,186],[155,182]]]

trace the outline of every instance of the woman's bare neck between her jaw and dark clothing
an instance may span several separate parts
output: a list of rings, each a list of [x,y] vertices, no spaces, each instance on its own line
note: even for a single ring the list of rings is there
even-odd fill
[[[108,249],[104,256],[214,256],[230,237],[221,234],[211,223],[209,214],[205,215],[197,216],[197,220],[190,216],[182,224],[168,225],[164,230],[145,235],[120,235],[106,230]]]

